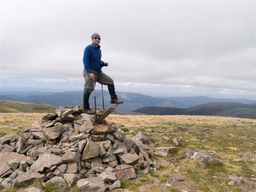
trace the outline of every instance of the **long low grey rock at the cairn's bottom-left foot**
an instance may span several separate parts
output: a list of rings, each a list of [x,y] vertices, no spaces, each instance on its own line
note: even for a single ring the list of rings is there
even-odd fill
[[[39,179],[41,181],[43,181],[45,178],[45,175],[40,174],[40,173],[24,173],[21,175],[18,175],[18,177],[16,177],[15,179],[12,180],[12,186],[19,186],[20,184],[26,184],[31,182],[34,179]]]

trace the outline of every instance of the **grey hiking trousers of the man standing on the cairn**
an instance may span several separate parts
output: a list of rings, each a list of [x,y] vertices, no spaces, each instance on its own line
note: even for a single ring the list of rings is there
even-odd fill
[[[94,81],[97,81],[100,84],[109,85],[114,84],[113,79],[111,77],[107,76],[103,72],[96,72],[95,70],[92,70],[92,73],[95,75]],[[83,70],[83,76],[84,76],[84,93],[92,93],[93,92],[93,79],[86,74],[86,71]]]

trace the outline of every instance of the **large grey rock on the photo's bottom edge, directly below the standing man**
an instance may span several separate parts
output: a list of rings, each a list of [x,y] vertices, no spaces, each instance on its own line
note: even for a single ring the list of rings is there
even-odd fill
[[[77,187],[80,191],[84,192],[104,192],[108,189],[108,185],[106,185],[104,181],[100,180],[97,177],[78,180]]]

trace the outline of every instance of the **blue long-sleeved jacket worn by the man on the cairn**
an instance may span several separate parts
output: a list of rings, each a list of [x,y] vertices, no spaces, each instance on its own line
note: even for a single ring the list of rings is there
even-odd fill
[[[100,67],[101,60],[101,51],[100,45],[98,47],[94,47],[92,44],[88,45],[84,49],[84,69],[87,74],[91,73],[91,70],[95,70],[97,72],[102,72]]]

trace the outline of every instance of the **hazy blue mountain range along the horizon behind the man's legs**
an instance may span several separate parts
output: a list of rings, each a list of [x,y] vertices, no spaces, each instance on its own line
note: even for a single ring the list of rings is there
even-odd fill
[[[107,91],[104,93],[104,106],[110,106],[110,97]],[[240,104],[255,104],[255,100],[248,99],[215,99],[211,97],[151,97],[140,93],[117,92],[118,99],[124,100],[116,111],[127,113],[146,106],[191,108],[209,102],[237,102]],[[97,108],[102,108],[102,91],[96,90],[95,98]],[[31,102],[36,104],[51,104],[53,106],[73,107],[83,105],[83,91],[44,93],[44,92],[0,92],[0,100],[15,100],[20,102]],[[94,107],[94,93],[90,97],[91,107]],[[232,108],[233,109],[233,108]],[[181,109],[180,109],[181,110]]]

